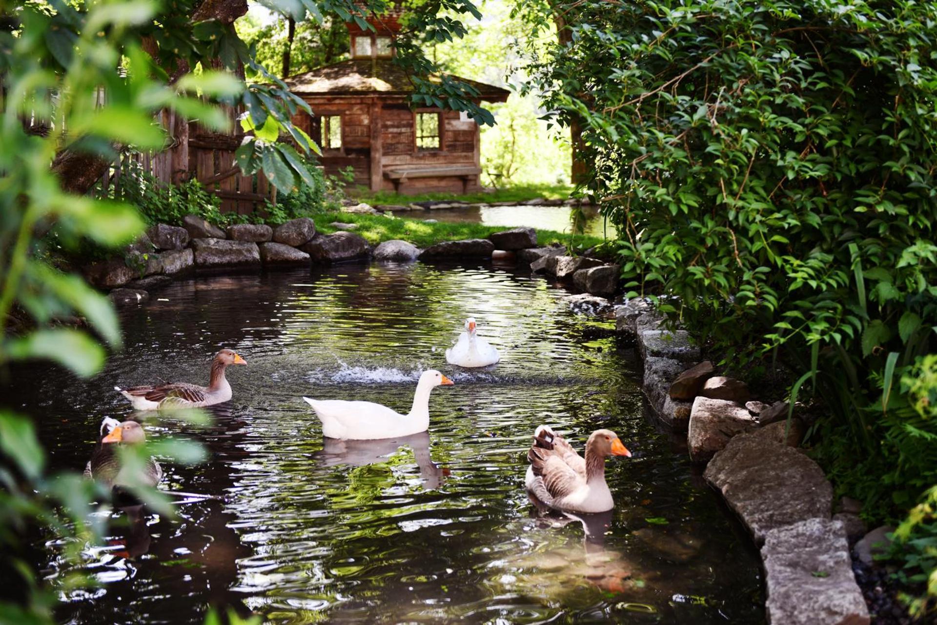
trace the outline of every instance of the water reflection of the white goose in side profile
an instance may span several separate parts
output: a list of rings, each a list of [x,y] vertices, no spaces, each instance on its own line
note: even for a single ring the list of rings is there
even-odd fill
[[[320,463],[326,467],[338,465],[351,465],[364,467],[364,465],[378,464],[395,454],[401,447],[408,446],[413,450],[416,465],[420,469],[420,476],[426,482],[427,488],[439,488],[445,469],[439,469],[429,453],[429,434],[420,432],[406,437],[379,440],[341,440],[322,439],[322,450],[314,454]]]

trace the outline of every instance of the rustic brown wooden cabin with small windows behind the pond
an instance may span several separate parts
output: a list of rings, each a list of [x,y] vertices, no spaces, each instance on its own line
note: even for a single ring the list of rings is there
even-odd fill
[[[371,21],[375,31],[349,23],[348,61],[287,81],[312,109],[311,116],[299,112],[293,123],[320,144],[326,173],[351,167],[354,184],[373,191],[480,190],[479,126],[465,113],[411,108],[413,85],[394,65],[397,17]],[[490,84],[459,80],[478,90],[479,101],[503,102],[510,95]]]

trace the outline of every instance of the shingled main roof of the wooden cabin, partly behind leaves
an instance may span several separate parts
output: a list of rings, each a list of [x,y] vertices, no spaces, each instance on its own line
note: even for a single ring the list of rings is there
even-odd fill
[[[503,102],[511,92],[484,82],[453,76],[478,90],[479,99]],[[297,74],[287,79],[298,96],[409,96],[413,84],[391,58],[358,58]]]

